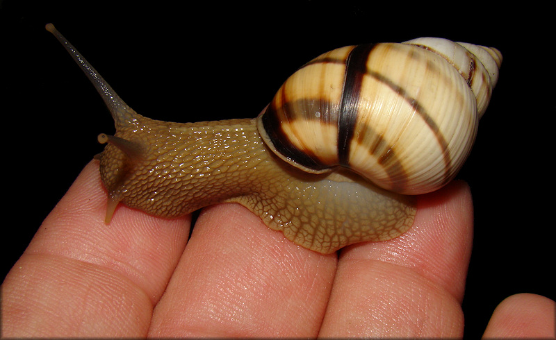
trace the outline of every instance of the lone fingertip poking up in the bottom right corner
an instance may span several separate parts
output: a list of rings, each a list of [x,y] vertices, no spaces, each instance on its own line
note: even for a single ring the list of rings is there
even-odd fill
[[[509,296],[494,309],[483,338],[554,339],[556,303],[535,294]]]

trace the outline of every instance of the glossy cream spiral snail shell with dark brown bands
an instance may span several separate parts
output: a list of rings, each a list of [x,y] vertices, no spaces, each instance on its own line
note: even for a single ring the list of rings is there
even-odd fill
[[[432,192],[467,158],[496,84],[497,61],[480,58],[438,38],[329,51],[286,80],[259,132],[305,171],[343,166],[393,192]]]

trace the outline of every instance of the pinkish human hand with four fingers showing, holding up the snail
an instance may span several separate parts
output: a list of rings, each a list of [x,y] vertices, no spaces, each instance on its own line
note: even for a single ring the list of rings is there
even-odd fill
[[[404,235],[322,255],[237,204],[161,219],[118,206],[92,161],[2,284],[4,337],[461,337],[473,239],[464,182]],[[553,337],[555,303],[504,300],[485,337]]]

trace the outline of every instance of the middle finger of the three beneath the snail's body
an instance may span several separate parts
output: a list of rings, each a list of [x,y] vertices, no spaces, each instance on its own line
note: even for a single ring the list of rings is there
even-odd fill
[[[296,246],[237,204],[204,210],[150,335],[315,337],[336,255]]]

